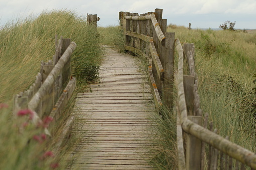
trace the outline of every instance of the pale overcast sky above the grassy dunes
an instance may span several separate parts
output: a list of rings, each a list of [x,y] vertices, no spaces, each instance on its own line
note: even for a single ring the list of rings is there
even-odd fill
[[[79,16],[97,14],[98,25],[118,25],[118,12],[147,13],[163,9],[167,23],[192,28],[218,28],[230,20],[235,28],[256,29],[256,0],[0,0],[0,26],[17,17],[39,15],[43,10],[73,10]]]

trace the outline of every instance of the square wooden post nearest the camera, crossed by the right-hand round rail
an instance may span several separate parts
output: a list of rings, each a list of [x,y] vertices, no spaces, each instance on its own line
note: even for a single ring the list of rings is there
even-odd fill
[[[201,116],[188,116],[188,119],[198,125],[202,124]],[[187,134],[186,136],[186,169],[201,169],[201,140]]]

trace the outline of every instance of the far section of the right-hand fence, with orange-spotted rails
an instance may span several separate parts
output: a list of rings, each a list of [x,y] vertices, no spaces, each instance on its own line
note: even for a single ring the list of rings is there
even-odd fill
[[[125,34],[125,49],[148,59],[148,75],[156,109],[162,102],[173,103],[174,33],[166,33],[167,20],[162,19],[162,9],[139,16],[119,12],[120,25]]]

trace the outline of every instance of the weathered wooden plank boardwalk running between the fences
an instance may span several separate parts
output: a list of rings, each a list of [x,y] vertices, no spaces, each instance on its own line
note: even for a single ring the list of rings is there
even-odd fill
[[[155,106],[146,75],[135,57],[105,48],[99,82],[76,100],[74,131],[88,132],[81,135],[73,168],[152,169],[145,153],[152,147]]]

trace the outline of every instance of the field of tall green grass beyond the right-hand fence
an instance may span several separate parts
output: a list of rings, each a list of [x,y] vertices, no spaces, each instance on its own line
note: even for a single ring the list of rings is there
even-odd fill
[[[256,151],[255,35],[233,31],[169,29],[183,43],[194,43],[201,107],[221,136]]]

